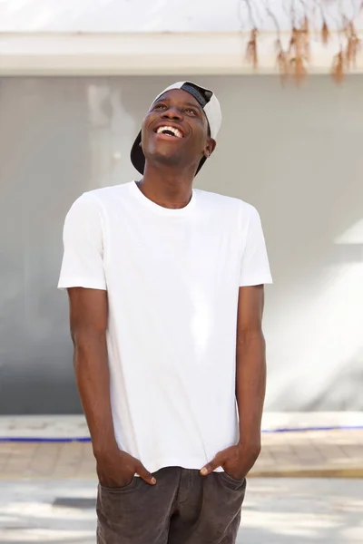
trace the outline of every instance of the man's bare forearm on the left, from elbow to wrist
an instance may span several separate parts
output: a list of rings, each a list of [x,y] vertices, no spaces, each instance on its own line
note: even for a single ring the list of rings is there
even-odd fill
[[[97,455],[116,445],[105,335],[74,335],[74,372]]]

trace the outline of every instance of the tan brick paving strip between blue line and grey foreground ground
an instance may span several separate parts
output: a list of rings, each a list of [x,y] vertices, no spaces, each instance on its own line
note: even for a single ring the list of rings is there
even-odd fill
[[[264,433],[251,472],[267,476],[363,478],[363,431]],[[89,442],[0,442],[0,479],[93,478]]]

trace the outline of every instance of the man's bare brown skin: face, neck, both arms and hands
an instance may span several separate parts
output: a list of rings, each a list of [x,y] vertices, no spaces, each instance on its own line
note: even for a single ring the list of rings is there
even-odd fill
[[[158,135],[160,126],[172,126],[182,138]],[[179,209],[191,199],[192,182],[201,157],[215,149],[208,121],[199,103],[181,90],[172,90],[154,102],[142,123],[145,170],[139,188],[164,208]],[[154,477],[140,460],[120,451],[115,440],[107,360],[107,293],[72,287],[71,333],[74,371],[91,433],[100,483],[120,488],[134,474],[154,485]],[[260,453],[260,420],[265,394],[265,344],[261,330],[263,287],[241,287],[238,310],[236,396],[240,413],[240,442],[220,452],[201,470],[208,475],[218,466],[243,478]]]

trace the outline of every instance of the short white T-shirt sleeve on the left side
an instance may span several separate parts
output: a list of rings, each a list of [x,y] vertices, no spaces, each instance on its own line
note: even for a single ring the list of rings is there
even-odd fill
[[[75,200],[64,221],[64,257],[58,288],[107,290],[103,270],[101,203],[90,193]]]

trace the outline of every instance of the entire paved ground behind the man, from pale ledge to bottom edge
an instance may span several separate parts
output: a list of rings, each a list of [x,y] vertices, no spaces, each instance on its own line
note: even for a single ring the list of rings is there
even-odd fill
[[[270,414],[264,428],[362,420],[361,413]],[[82,436],[79,416],[0,418],[0,439]],[[251,476],[239,544],[363,542],[362,430],[265,432]],[[89,443],[0,442],[0,544],[94,544],[95,492]]]

